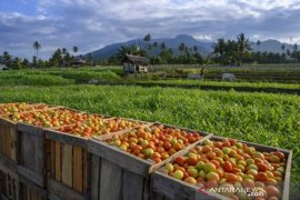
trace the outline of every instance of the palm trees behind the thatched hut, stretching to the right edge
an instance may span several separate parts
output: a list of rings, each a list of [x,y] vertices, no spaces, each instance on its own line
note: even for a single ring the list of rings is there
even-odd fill
[[[120,64],[120,60],[126,53],[147,57],[151,64],[219,63],[220,66],[241,66],[242,63],[300,62],[300,51],[298,51],[297,43],[292,50],[286,49],[284,44],[282,44],[281,53],[252,51],[252,43],[244,33],[238,34],[236,40],[217,39],[217,42],[212,44],[213,52],[206,57],[202,56],[201,49],[197,46],[188,47],[184,43],[180,43],[176,49],[177,52],[173,52],[174,50],[169,48],[164,42],[151,42],[150,33],[144,36],[143,41],[147,43],[147,48],[138,44],[121,47],[116,54],[102,63]],[[257,46],[260,46],[260,41],[257,42]]]

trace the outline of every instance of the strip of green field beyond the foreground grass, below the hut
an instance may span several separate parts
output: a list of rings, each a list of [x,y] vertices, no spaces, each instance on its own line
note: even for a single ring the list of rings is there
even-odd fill
[[[67,86],[73,83],[88,83],[91,80],[100,83],[140,84],[179,88],[200,89],[236,89],[241,91],[276,91],[292,90],[297,93],[300,90],[299,83],[276,83],[276,82],[220,82],[199,81],[187,79],[161,80],[159,74],[149,73],[139,78],[127,78],[122,74],[122,69],[110,68],[80,68],[50,70],[22,70],[0,72],[0,86]],[[280,90],[281,89],[281,90]],[[299,92],[298,92],[299,93]]]

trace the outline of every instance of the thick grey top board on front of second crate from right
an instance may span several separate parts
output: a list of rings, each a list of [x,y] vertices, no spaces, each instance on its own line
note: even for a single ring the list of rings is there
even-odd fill
[[[147,160],[137,158],[116,147],[109,146],[106,142],[100,142],[93,139],[89,140],[89,152],[144,177],[149,174],[149,168],[152,166],[152,163]]]

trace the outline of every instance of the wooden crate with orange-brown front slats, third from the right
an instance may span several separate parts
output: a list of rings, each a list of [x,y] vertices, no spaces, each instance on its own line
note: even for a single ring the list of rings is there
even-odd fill
[[[108,118],[104,120],[113,120]],[[146,123],[139,121],[141,123]],[[133,128],[103,134],[111,138],[132,130]],[[46,131],[46,138],[50,140],[50,154],[47,160],[50,174],[48,176],[48,189],[51,199],[84,199],[89,198],[90,158],[88,153],[88,138],[77,137],[56,130]],[[68,192],[66,192],[68,191]]]

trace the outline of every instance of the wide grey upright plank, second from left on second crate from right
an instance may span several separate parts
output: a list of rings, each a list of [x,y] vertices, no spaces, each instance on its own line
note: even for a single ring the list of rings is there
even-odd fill
[[[122,192],[122,168],[109,160],[101,159],[100,200],[119,200]]]

